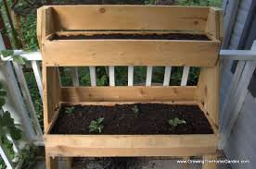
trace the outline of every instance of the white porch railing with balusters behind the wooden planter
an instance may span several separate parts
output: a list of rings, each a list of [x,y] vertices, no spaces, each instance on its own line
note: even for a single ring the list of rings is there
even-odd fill
[[[245,93],[248,88],[250,78],[252,76],[252,73],[255,69],[255,63],[256,63],[256,43],[254,43],[253,47],[251,50],[222,50],[220,52],[220,57],[221,59],[228,59],[228,60],[238,60],[237,64],[237,69],[235,72],[235,76],[233,78],[233,81],[231,83],[230,90],[227,92],[228,97],[231,98],[226,100],[224,102],[224,110],[222,110],[222,114],[226,111],[230,111],[231,104],[235,105],[235,111],[232,119],[230,120],[229,123],[226,123],[223,127],[221,128],[221,140],[222,140],[222,145],[226,142],[228,139],[231,129],[234,126],[236,119],[237,119],[237,114],[239,113],[239,110],[241,108],[241,104],[243,103],[245,99]],[[32,53],[26,53],[21,50],[15,50],[15,54],[19,54],[20,56],[26,58],[26,60],[30,61],[32,64],[32,70],[33,70],[33,75],[36,79],[37,87],[39,90],[39,93],[41,95],[42,99],[42,91],[43,91],[43,85],[42,85],[42,74],[41,74],[41,68],[40,68],[40,62],[42,60],[42,56],[40,52],[32,52]],[[9,58],[4,58],[8,60]],[[20,105],[24,106],[22,109],[25,109],[26,113],[21,114],[24,115],[24,119],[28,118],[29,120],[32,121],[32,123],[26,123],[26,120],[23,120],[23,126],[25,128],[33,128],[34,132],[31,134],[32,135],[32,142],[36,145],[44,145],[43,142],[43,132],[40,128],[40,125],[38,123],[38,119],[36,117],[36,112],[34,109],[34,105],[32,103],[32,98],[30,91],[27,86],[27,82],[24,78],[24,74],[22,71],[22,67],[17,65],[16,63],[12,63],[12,60],[9,59],[7,61],[7,66],[11,66],[11,64],[14,67],[16,77],[15,76],[9,76],[8,78],[14,78],[13,80],[9,80],[10,83],[18,83],[19,82],[19,87],[20,87],[20,95],[22,94],[23,100],[19,101],[22,102],[24,101],[25,103],[20,103]],[[146,86],[151,86],[152,83],[152,66],[147,66],[147,78],[146,78]],[[71,77],[72,77],[72,83],[73,86],[79,86],[79,75],[78,75],[78,69],[76,67],[72,67],[71,69]],[[183,69],[183,75],[181,78],[181,86],[186,86],[187,84],[187,79],[188,79],[188,74],[189,74],[190,67],[185,66]],[[11,68],[8,69],[8,73],[10,73],[12,70]],[[89,71],[90,71],[90,81],[91,81],[91,86],[96,86],[96,66],[89,66]],[[169,86],[170,84],[170,77],[171,77],[171,72],[172,72],[172,66],[166,66],[165,67],[165,72],[164,72],[164,78],[162,85],[163,86]],[[14,74],[14,72],[12,72]],[[9,85],[9,84],[8,84]],[[17,84],[16,84],[17,85]],[[134,85],[134,66],[128,66],[128,86],[133,86]],[[109,86],[115,86],[115,67],[114,66],[109,66]],[[15,85],[12,84],[12,87],[15,88]],[[16,86],[17,89],[19,89]],[[239,89],[239,91],[237,90]],[[241,90],[242,89],[242,90]],[[16,93],[17,95],[17,93]],[[235,96],[239,96],[238,100],[232,98],[236,98]],[[18,96],[16,96],[18,97]],[[236,103],[237,102],[237,103]],[[27,106],[26,106],[27,105]],[[232,109],[233,110],[233,109]],[[28,117],[29,116],[29,117]],[[19,146],[16,146],[19,147]],[[221,146],[223,147],[223,146]],[[6,165],[9,168],[14,168],[13,162],[10,160],[8,154],[6,153],[6,150],[3,145],[0,144],[0,153],[2,156],[2,159],[5,160]],[[18,149],[19,150],[19,149]],[[18,152],[19,153],[19,152]]]

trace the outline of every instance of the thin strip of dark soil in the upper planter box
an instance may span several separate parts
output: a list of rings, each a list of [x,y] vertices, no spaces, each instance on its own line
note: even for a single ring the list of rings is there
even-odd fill
[[[94,34],[94,35],[55,35],[53,40],[197,40],[211,41],[203,34],[188,34],[188,33],[150,33],[150,34]]]

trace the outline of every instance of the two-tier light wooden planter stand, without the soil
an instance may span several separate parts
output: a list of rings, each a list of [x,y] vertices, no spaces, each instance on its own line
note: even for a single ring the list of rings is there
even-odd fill
[[[220,10],[185,6],[43,6],[38,9],[37,32],[43,54],[47,168],[53,167],[51,157],[58,156],[204,155],[207,158],[216,154],[218,53],[222,40]],[[189,33],[203,35],[208,40],[85,37],[113,33]],[[201,70],[198,86],[64,88],[59,84],[58,66],[200,66]],[[100,105],[150,102],[197,104],[214,132],[188,135],[50,134],[62,103]]]

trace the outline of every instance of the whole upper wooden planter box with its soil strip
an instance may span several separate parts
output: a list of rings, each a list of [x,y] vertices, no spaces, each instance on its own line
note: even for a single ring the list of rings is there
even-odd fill
[[[43,6],[45,66],[215,66],[221,10],[188,6]]]

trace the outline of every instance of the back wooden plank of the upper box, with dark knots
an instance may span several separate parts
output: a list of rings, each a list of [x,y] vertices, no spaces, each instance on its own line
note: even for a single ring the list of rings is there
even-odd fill
[[[209,7],[53,6],[60,30],[205,30]],[[178,23],[178,24],[177,24]]]

